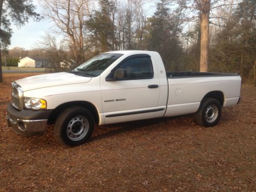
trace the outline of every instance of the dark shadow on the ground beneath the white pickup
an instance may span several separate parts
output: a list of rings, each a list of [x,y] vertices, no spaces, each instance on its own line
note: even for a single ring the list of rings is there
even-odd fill
[[[229,120],[230,119],[228,118],[221,118],[220,123],[227,123]],[[87,141],[87,143],[83,145],[91,145],[95,141],[111,139],[112,137],[113,139],[116,139],[116,136],[119,135],[121,139],[125,139],[124,134],[130,134],[130,136],[132,134],[135,136],[139,136],[144,135],[146,132],[160,133],[166,131],[172,131],[174,134],[176,134],[176,132],[182,132],[189,129],[202,129],[202,127],[194,122],[193,114],[175,117],[145,119],[101,126],[95,124],[95,130],[92,137]],[[23,142],[25,142],[26,140],[26,142],[30,143],[33,146],[41,147],[42,145],[44,145],[44,147],[49,149],[53,146],[59,147],[58,143],[53,137],[53,125],[49,125],[47,127],[46,133],[42,137],[22,138],[20,139],[22,139]]]

